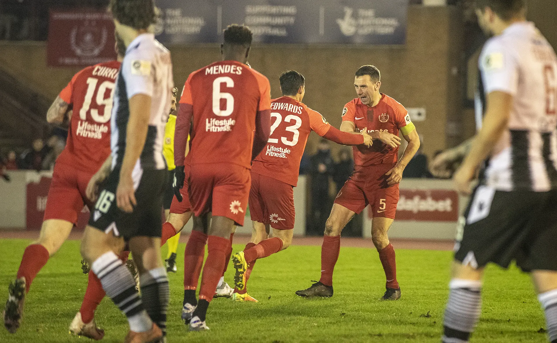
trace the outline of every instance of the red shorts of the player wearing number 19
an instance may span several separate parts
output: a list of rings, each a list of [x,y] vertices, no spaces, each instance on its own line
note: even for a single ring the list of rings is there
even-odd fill
[[[45,217],[63,219],[77,224],[77,216],[87,205],[92,209],[94,203],[87,199],[85,189],[95,172],[84,172],[72,165],[56,163],[46,199]]]

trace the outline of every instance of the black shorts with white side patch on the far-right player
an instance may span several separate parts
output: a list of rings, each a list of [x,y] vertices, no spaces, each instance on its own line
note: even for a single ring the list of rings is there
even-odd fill
[[[557,271],[557,190],[500,192],[477,187],[457,228],[455,259],[522,271]]]

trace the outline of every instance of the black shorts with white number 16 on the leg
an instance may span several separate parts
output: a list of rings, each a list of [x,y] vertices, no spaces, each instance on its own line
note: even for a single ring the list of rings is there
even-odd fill
[[[114,169],[101,188],[95,209],[89,218],[89,226],[100,231],[114,232],[115,236],[129,239],[146,236],[160,237],[162,232],[163,193],[168,181],[168,170],[143,170],[135,176],[137,205],[131,213],[126,213],[116,205],[116,188],[120,169]]]

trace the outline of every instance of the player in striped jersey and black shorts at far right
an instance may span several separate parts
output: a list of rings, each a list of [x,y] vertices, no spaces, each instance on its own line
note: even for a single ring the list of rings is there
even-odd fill
[[[531,272],[557,342],[557,56],[525,12],[524,0],[476,0],[478,23],[494,37],[480,55],[486,113],[454,175],[458,192],[471,193],[488,161],[457,228],[445,343],[470,339],[487,263],[512,260]]]

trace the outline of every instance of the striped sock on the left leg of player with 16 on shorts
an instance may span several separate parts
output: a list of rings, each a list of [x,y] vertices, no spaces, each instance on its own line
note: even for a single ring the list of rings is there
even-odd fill
[[[128,317],[130,330],[151,330],[153,321],[145,312],[139,293],[135,289],[134,277],[118,256],[111,251],[104,253],[91,264],[91,269],[99,277],[106,295]]]

